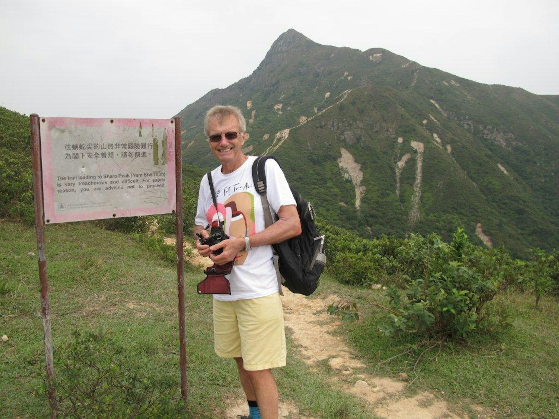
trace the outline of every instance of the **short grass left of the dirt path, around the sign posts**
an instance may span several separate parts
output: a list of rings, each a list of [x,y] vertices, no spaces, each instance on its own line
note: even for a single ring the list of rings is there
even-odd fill
[[[48,417],[35,230],[0,222],[0,336],[8,337],[0,342],[0,417]],[[75,331],[110,337],[125,348],[115,364],[137,368],[133,372],[148,384],[176,383],[163,395],[170,405],[157,417],[222,417],[228,400],[243,397],[233,361],[214,353],[211,299],[195,293],[201,269],[185,272],[188,403],[181,409],[174,264],[130,235],[89,223],[48,226],[46,257],[55,360],[69,356]],[[293,346],[288,338],[288,366],[276,372],[282,397],[304,415],[371,417],[359,402],[331,388],[326,371],[310,370]],[[56,378],[67,373],[55,364]],[[124,413],[109,416],[118,415]]]

